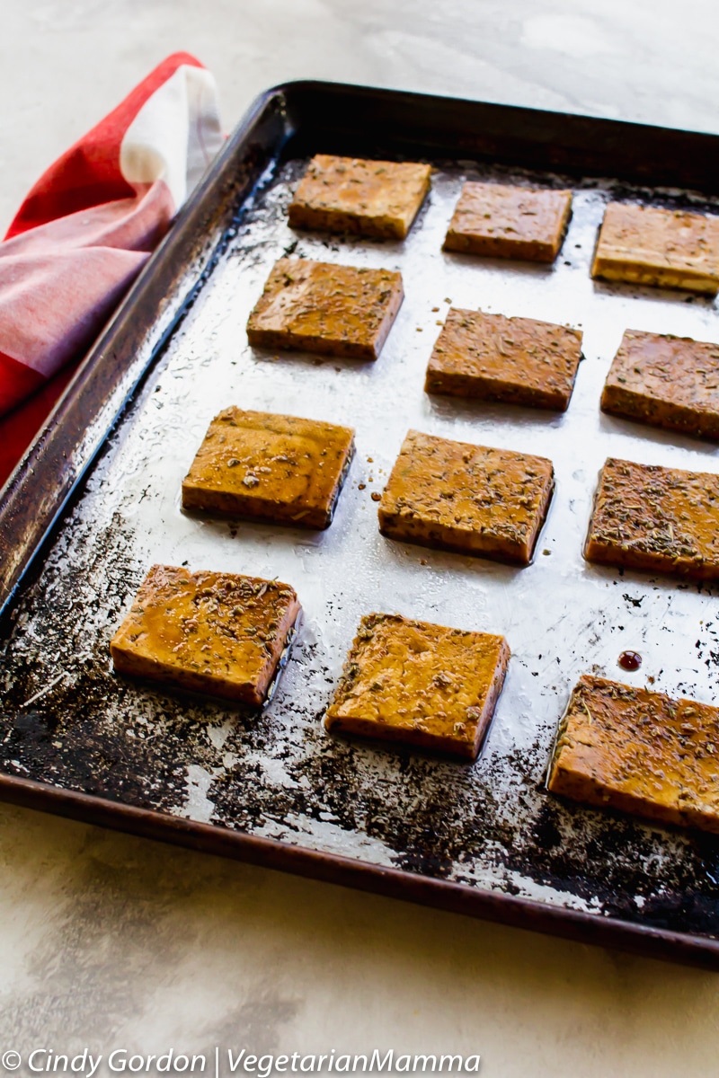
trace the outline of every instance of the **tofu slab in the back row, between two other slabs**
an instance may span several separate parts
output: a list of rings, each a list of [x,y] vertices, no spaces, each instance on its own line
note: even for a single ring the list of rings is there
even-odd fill
[[[554,262],[571,212],[571,191],[466,183],[444,239],[445,251]]]

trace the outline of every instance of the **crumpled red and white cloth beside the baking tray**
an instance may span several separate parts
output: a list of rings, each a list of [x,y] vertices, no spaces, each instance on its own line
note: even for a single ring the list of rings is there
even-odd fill
[[[222,142],[212,75],[175,53],[28,194],[0,244],[0,485]]]

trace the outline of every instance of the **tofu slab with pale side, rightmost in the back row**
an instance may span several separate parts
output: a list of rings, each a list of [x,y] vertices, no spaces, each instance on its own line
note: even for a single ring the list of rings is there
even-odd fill
[[[592,276],[716,295],[719,217],[610,203]]]

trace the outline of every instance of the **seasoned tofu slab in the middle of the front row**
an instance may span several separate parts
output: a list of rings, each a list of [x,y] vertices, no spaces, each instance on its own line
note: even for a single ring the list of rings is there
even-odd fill
[[[509,655],[503,636],[368,614],[324,727],[474,760]]]

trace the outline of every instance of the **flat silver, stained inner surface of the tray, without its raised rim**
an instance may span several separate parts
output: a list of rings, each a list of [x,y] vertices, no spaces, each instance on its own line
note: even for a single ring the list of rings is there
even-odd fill
[[[716,306],[591,280],[604,205],[612,192],[632,194],[609,181],[577,185],[445,163],[409,239],[393,244],[289,230],[287,204],[304,167],[294,161],[265,177],[16,605],[0,672],[0,769],[375,866],[716,937],[716,839],[569,805],[543,788],[556,722],[582,673],[716,701],[717,591],[616,573],[581,556],[608,455],[717,470],[714,446],[598,410],[625,329],[719,342]],[[575,186],[554,266],[441,251],[461,182],[474,178]],[[651,197],[692,201],[680,192]],[[405,301],[375,363],[247,346],[249,312],[275,259],[288,253],[402,272]],[[450,302],[581,328],[585,359],[569,411],[425,395]],[[356,428],[357,456],[328,531],[181,512],[182,476],[210,418],[230,404]],[[409,427],[553,460],[556,493],[530,567],[379,536],[371,494],[382,489]],[[279,577],[296,589],[302,626],[264,713],[241,715],[114,677],[109,639],[153,562]],[[371,610],[507,636],[512,660],[478,763],[323,731],[355,628]],[[626,648],[644,657],[636,674],[617,666]]]

